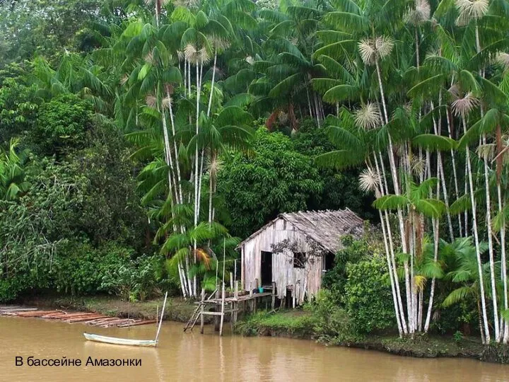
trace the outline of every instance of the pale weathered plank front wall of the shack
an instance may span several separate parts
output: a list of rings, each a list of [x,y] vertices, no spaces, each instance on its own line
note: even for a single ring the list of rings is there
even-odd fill
[[[296,230],[283,219],[277,219],[257,236],[242,246],[242,287],[256,287],[256,280],[261,280],[262,251],[272,252],[271,244],[288,239],[300,243],[301,252],[308,252],[305,235]],[[302,304],[305,295],[314,296],[322,284],[322,259],[312,258],[305,268],[293,267],[293,253],[272,255],[272,281],[276,283],[279,299],[286,297],[286,289],[295,286],[296,303]]]

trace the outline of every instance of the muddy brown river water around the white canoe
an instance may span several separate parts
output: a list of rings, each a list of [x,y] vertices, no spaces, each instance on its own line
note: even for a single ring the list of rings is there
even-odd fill
[[[308,340],[219,337],[163,323],[157,348],[86,341],[83,332],[153,339],[155,325],[95,328],[37,318],[0,318],[0,381],[509,381],[509,366],[474,359],[414,359]],[[15,366],[15,357],[23,366]],[[82,366],[27,366],[26,359],[81,359]],[[84,366],[141,359],[141,366]]]

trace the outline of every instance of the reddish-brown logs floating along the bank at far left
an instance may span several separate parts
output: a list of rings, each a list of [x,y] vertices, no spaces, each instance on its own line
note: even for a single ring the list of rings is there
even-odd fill
[[[99,313],[40,311],[37,308],[27,308],[25,306],[0,306],[0,316],[45,318],[47,320],[63,321],[64,323],[85,323],[101,328],[127,328],[129,326],[156,323],[156,320],[134,320],[132,318],[104,316]]]

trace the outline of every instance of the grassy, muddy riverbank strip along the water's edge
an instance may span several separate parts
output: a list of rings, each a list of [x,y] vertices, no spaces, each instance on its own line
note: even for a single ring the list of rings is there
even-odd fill
[[[153,320],[156,312],[163,306],[163,299],[127,303],[112,296],[90,296],[71,299],[70,297],[37,296],[27,297],[18,303],[39,308],[56,308],[74,311],[102,313],[107,316],[129,317]],[[192,301],[180,297],[168,299],[165,320],[185,323],[192,316],[196,306]],[[206,323],[211,318],[206,317]],[[257,314],[240,319],[235,325],[235,334],[248,336],[288,337],[305,340],[318,340],[327,346],[354,347],[396,354],[404,357],[439,358],[460,357],[478,359],[499,364],[509,363],[509,347],[491,345],[484,347],[477,338],[452,336],[419,336],[414,340],[400,339],[394,335],[370,335],[358,337],[347,342],[331,338],[319,338],[315,332],[315,320],[308,311],[290,310]]]

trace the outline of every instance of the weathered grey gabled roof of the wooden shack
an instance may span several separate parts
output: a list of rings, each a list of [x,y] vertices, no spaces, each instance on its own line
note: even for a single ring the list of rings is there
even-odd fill
[[[305,211],[279,214],[276,219],[266,224],[250,237],[238,245],[242,247],[247,241],[264,231],[265,228],[274,224],[278,219],[284,219],[292,224],[299,231],[312,238],[325,250],[336,253],[341,249],[341,236],[361,236],[363,233],[363,219],[357,216],[350,209],[339,209],[337,211]]]

